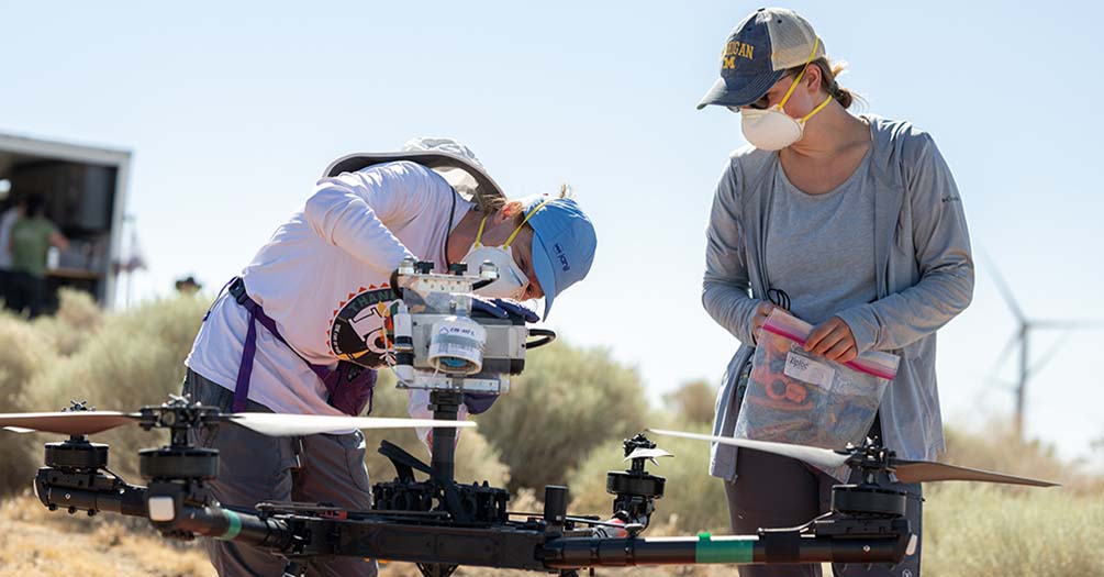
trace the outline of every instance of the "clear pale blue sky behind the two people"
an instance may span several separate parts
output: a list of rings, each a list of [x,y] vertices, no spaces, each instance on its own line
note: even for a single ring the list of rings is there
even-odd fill
[[[694,105],[758,6],[0,0],[0,132],[134,151],[139,298],[188,273],[216,290],[347,153],[454,136],[511,196],[567,181],[598,254],[551,325],[638,366],[658,405],[718,382],[736,347],[699,297],[713,188],[744,140],[736,115]],[[867,112],[933,134],[1030,316],[1104,317],[1098,3],[788,6]],[[948,420],[981,427],[1011,411],[1015,357],[997,361],[1015,323],[978,272],[938,365]],[[1029,390],[1029,432],[1066,455],[1104,437],[1102,347],[1072,335]]]

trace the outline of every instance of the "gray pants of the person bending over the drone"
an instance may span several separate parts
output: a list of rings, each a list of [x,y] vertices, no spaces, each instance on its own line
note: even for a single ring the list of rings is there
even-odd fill
[[[191,370],[183,390],[193,401],[231,412],[234,394]],[[248,412],[273,412],[248,401]],[[253,507],[262,501],[332,503],[354,511],[371,508],[371,485],[364,468],[364,436],[310,434],[267,437],[244,427],[204,430],[193,442],[219,450],[214,497],[232,506]],[[222,576],[283,575],[287,562],[268,549],[206,539],[208,556]],[[308,565],[310,576],[369,576],[375,562],[359,557],[319,558]]]

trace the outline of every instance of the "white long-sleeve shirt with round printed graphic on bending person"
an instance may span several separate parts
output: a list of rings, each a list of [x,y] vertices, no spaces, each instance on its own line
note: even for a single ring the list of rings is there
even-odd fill
[[[244,269],[246,291],[310,363],[333,366],[353,357],[381,366],[381,313],[394,300],[391,272],[407,255],[443,270],[445,238],[471,206],[436,172],[410,161],[323,178]],[[229,294],[220,297],[184,364],[233,390],[247,319]],[[250,400],[276,412],[341,415],[302,359],[259,324],[253,363]]]

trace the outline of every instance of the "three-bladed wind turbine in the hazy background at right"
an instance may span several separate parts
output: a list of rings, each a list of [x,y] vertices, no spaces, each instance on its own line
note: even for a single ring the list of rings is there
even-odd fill
[[[1023,439],[1023,415],[1027,411],[1027,388],[1028,380],[1040,370],[1042,367],[1050,361],[1050,359],[1061,349],[1061,346],[1065,343],[1069,337],[1070,331],[1085,331],[1085,329],[1096,329],[1104,328],[1104,321],[1061,321],[1061,319],[1040,319],[1040,318],[1029,318],[1023,310],[1020,307],[1019,303],[1016,302],[1016,297],[1012,296],[1012,291],[1005,282],[1004,276],[1000,275],[1000,271],[994,263],[992,259],[986,258],[989,263],[989,267],[992,269],[992,280],[997,284],[997,290],[1000,291],[1000,296],[1004,298],[1005,304],[1012,312],[1012,316],[1016,317],[1017,328],[1012,334],[1012,338],[1009,339],[1005,348],[1001,349],[1000,356],[998,357],[997,365],[1004,364],[1006,357],[1008,357],[1009,352],[1017,345],[1019,345],[1019,379],[1016,382],[1016,436],[1020,440]],[[1040,357],[1034,365],[1031,364],[1030,357],[1030,342],[1032,331],[1061,331],[1062,335],[1059,339],[1051,346],[1050,350],[1047,352],[1042,357]]]

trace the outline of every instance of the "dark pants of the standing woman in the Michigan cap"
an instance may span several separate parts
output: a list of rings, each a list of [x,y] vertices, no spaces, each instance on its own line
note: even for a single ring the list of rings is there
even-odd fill
[[[852,472],[851,483],[861,475]],[[879,479],[889,482],[889,479]],[[725,481],[732,532],[754,535],[760,527],[795,527],[826,513],[831,504],[831,485],[839,484],[800,461],[761,451],[740,449],[736,454],[736,480]],[[923,528],[923,499],[920,483],[893,483],[894,489],[909,493],[905,517],[913,534]],[[900,565],[832,564],[832,574],[868,577],[920,577],[920,546]],[[820,577],[819,565],[746,565],[740,577]]]

